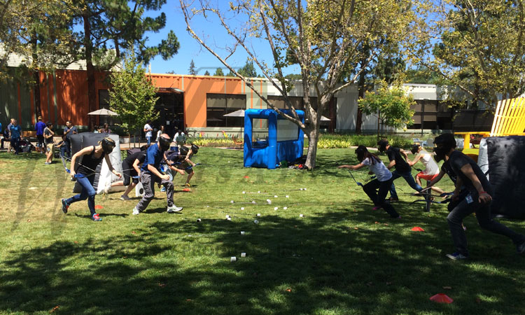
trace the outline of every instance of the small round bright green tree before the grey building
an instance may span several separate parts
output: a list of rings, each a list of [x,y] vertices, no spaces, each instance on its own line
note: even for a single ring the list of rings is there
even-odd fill
[[[416,104],[412,95],[407,95],[401,87],[388,87],[383,81],[377,92],[365,92],[365,97],[358,99],[358,106],[366,115],[377,115],[381,124],[393,128],[412,125],[414,111],[410,106]],[[379,136],[379,126],[377,126]]]

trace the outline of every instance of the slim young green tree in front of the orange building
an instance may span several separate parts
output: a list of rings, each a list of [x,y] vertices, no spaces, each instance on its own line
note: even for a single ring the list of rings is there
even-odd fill
[[[118,113],[121,126],[130,138],[147,120],[158,118],[155,103],[159,98],[151,79],[146,77],[146,69],[139,64],[133,51],[125,57],[124,69],[113,71],[110,78],[109,107]]]

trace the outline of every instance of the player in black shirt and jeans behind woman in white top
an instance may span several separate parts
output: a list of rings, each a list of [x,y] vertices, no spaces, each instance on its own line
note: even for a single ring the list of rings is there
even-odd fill
[[[395,171],[392,172],[393,175],[393,181],[396,179],[402,177],[405,179],[405,181],[408,183],[412,189],[416,190],[418,193],[423,190],[421,186],[419,186],[412,177],[412,168],[410,165],[408,165],[407,161],[405,159],[408,158],[407,153],[403,151],[400,148],[394,148],[393,146],[390,146],[388,144],[388,140],[381,139],[377,141],[377,146],[379,146],[379,152],[386,152],[386,155],[388,155],[388,160],[390,160],[390,163],[388,163],[388,166],[386,166],[387,169],[391,169],[392,167],[395,167]],[[405,158],[402,158],[403,155]],[[392,186],[390,188],[390,199],[391,202],[393,201],[399,201],[398,193],[395,191],[394,183],[392,183]]]

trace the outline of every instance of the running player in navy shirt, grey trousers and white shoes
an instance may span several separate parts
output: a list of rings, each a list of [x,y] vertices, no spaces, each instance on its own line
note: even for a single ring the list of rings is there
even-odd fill
[[[141,166],[141,183],[144,187],[144,195],[142,195],[142,199],[137,206],[134,207],[132,212],[134,215],[146,210],[148,204],[153,200],[153,197],[155,197],[155,183],[159,182],[166,188],[167,213],[172,214],[182,211],[183,208],[176,207],[173,202],[173,183],[169,181],[169,175],[160,172],[160,161],[162,159],[164,159],[168,165],[172,164],[172,162],[167,160],[165,155],[165,151],[169,149],[171,143],[172,139],[170,139],[167,134],[161,134],[159,141],[148,147],[146,160],[144,160]]]

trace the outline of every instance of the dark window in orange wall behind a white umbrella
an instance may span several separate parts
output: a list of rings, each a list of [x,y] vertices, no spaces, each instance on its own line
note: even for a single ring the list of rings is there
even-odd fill
[[[239,109],[246,109],[244,94],[207,94],[207,127],[243,127],[244,117],[225,117]]]

